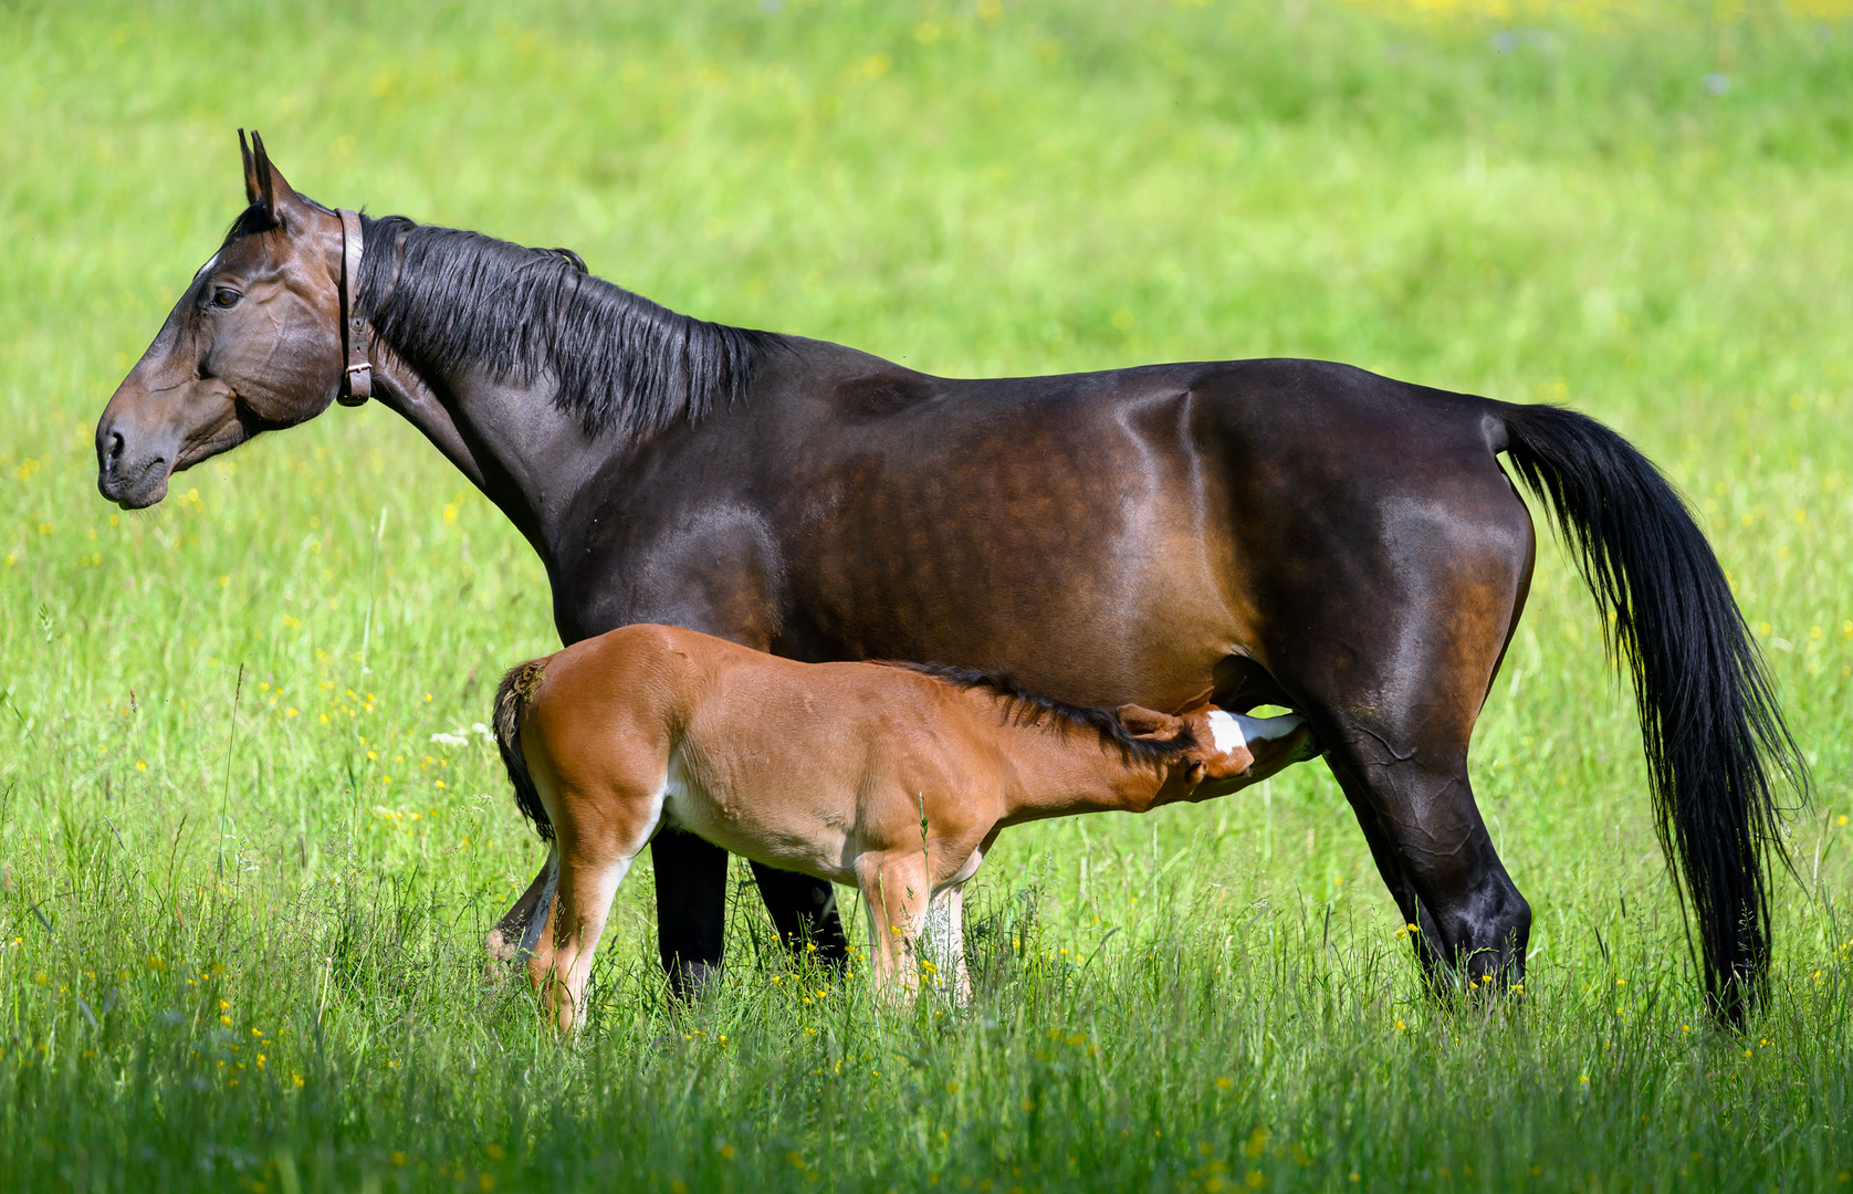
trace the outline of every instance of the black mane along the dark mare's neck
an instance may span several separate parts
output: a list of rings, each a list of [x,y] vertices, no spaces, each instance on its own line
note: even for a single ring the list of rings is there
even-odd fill
[[[524,248],[402,215],[361,217],[359,313],[408,362],[478,367],[502,382],[550,375],[586,434],[637,443],[743,399],[782,343],[676,315],[595,278],[563,248]]]

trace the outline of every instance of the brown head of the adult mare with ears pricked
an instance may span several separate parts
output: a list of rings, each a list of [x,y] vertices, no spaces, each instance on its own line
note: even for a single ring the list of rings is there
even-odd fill
[[[245,213],[193,274],[96,423],[96,488],[124,510],[170,475],[328,410],[341,387],[341,219],[245,146]]]

